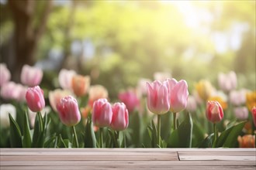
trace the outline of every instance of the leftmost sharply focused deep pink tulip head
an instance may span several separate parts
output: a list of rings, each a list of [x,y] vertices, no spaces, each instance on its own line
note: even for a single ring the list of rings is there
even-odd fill
[[[39,86],[28,88],[26,91],[26,103],[33,112],[43,110],[45,106],[43,90]]]

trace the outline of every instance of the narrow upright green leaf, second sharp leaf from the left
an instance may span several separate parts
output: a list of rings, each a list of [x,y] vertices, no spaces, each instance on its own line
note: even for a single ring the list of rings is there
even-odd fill
[[[31,147],[31,136],[29,128],[29,119],[27,113],[24,114],[24,127],[23,127],[23,138],[22,138],[22,147],[30,148]]]

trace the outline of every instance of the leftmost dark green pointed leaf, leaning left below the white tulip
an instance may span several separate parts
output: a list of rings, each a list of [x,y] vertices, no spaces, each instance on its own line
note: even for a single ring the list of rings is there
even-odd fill
[[[22,148],[22,135],[19,129],[19,125],[9,114],[10,121],[10,142],[12,148]]]

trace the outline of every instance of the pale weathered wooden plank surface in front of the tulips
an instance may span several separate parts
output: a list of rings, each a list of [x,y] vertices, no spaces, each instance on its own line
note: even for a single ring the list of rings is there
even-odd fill
[[[0,148],[0,169],[256,169],[255,148]]]

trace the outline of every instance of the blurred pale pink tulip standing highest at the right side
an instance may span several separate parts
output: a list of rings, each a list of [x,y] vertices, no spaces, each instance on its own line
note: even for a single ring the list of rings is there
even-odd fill
[[[219,86],[224,91],[234,90],[237,87],[237,75],[234,71],[224,74],[220,73],[218,76]]]

